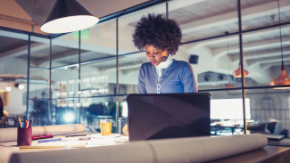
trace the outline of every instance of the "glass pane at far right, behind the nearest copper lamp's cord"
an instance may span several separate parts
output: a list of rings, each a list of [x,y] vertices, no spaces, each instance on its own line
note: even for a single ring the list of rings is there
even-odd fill
[[[290,26],[282,26],[282,50],[286,72],[289,74]],[[249,71],[244,86],[269,86],[281,71],[279,28],[264,29],[243,35],[244,69]],[[238,61],[238,57],[232,56]]]

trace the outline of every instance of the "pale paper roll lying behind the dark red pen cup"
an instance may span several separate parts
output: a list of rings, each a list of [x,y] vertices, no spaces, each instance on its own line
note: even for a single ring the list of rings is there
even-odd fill
[[[55,125],[55,126],[32,126],[32,136],[46,135],[46,134],[71,134],[79,133],[85,130],[82,124],[73,125]],[[17,127],[1,128],[0,142],[16,141]]]

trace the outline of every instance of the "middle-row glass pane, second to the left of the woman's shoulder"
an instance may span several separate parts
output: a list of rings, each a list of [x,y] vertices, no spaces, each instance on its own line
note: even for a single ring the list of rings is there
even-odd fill
[[[116,94],[116,58],[80,67],[80,96]]]

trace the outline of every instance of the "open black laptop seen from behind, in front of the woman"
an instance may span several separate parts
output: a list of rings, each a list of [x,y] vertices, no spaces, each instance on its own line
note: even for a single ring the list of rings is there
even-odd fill
[[[129,94],[129,141],[211,135],[211,94]]]

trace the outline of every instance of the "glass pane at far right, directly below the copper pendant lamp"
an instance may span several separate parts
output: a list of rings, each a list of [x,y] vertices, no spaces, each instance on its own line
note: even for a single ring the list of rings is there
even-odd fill
[[[248,130],[251,133],[268,134],[281,134],[284,129],[289,130],[289,97],[290,90],[247,90],[245,98],[250,99],[251,118],[257,122],[256,124],[248,125]],[[268,126],[266,128],[253,127],[253,125],[263,126],[264,124],[268,124]]]

